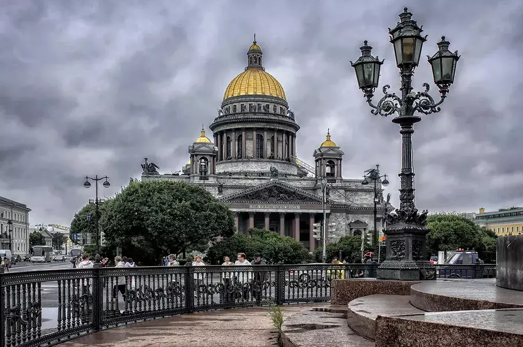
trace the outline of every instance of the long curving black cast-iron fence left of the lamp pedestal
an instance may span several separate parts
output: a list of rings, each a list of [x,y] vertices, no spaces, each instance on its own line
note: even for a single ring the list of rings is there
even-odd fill
[[[68,269],[0,273],[0,347],[49,346],[147,318],[326,302],[331,281],[378,264]]]

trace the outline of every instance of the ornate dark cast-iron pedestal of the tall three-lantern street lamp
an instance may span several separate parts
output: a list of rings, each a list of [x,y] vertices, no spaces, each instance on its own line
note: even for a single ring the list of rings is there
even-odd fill
[[[387,215],[388,225],[383,229],[387,242],[387,257],[378,267],[377,278],[384,280],[435,280],[436,267],[426,259],[426,212]]]

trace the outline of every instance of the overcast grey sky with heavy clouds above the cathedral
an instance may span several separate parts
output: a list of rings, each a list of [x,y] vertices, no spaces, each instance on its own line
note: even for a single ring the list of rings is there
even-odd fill
[[[438,95],[423,57],[442,35],[462,55],[442,111],[415,126],[417,207],[523,205],[519,0],[4,0],[0,195],[27,204],[31,224],[69,225],[94,199],[86,175],[108,175],[111,187],[101,190],[112,196],[140,177],[143,157],[161,173],[179,170],[256,32],[301,126],[298,156],[312,164],[331,128],[344,177],[379,163],[397,205],[399,127],[370,114],[349,60],[368,40],[385,59],[380,85],[399,88],[387,28],[404,6],[429,35],[416,90],[429,82]]]

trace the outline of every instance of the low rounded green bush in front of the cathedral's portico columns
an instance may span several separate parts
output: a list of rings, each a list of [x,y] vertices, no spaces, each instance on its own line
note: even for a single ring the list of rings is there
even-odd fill
[[[255,253],[260,253],[267,264],[300,264],[311,260],[303,245],[291,237],[265,229],[249,228],[247,232],[249,236],[234,234],[214,242],[207,252],[207,263],[221,264],[225,256],[234,261],[237,253],[245,253],[247,259],[252,259]]]

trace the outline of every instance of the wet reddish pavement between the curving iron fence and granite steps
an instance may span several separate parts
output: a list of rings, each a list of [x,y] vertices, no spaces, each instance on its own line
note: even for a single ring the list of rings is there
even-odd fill
[[[328,304],[327,304],[328,305]],[[304,306],[282,306],[287,317]],[[267,307],[206,311],[131,323],[59,344],[59,347],[265,347],[277,346]]]

